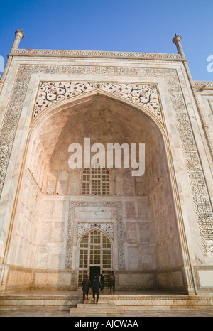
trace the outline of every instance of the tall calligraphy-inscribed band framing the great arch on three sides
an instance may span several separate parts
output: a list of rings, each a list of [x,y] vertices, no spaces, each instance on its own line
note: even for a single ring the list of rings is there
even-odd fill
[[[175,112],[176,125],[182,150],[185,154],[185,165],[190,179],[192,199],[204,253],[213,253],[213,215],[209,200],[200,156],[197,152],[190,119],[185,108],[178,73],[175,69],[141,68],[141,67],[111,67],[111,66],[75,66],[75,65],[20,65],[16,81],[13,85],[11,99],[6,108],[4,121],[0,132],[0,193],[2,192],[9,158],[16,136],[18,121],[23,107],[23,101],[28,89],[31,74],[78,74],[78,75],[108,75],[135,77],[163,77],[168,84],[170,99]]]

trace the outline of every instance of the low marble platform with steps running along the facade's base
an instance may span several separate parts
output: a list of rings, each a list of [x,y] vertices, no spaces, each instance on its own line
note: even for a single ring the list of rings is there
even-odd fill
[[[92,292],[89,293],[89,299]],[[162,291],[116,291],[111,295],[109,290],[99,297],[99,302],[107,301],[111,308],[122,308],[123,312],[139,311],[172,311],[172,310],[213,310],[213,295],[182,295]],[[90,301],[88,301],[89,303]],[[73,314],[89,314],[82,307],[82,291],[21,291],[0,295],[0,310],[58,309]],[[92,303],[91,303],[92,305]],[[87,304],[88,308],[88,304]],[[91,308],[91,307],[90,307]],[[76,309],[76,310],[74,310]],[[92,312],[90,312],[92,313]],[[112,313],[111,310],[105,313]],[[121,313],[118,311],[118,314]]]

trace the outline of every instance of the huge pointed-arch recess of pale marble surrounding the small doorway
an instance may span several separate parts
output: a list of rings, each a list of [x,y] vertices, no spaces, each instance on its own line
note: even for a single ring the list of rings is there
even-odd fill
[[[69,168],[68,150],[70,143],[84,148],[85,137],[106,151],[108,143],[145,144],[144,175],[133,177],[131,168],[114,166],[105,194],[83,191],[83,169]],[[107,229],[116,288],[187,293],[169,163],[168,138],[158,118],[107,92],[65,100],[38,115],[28,134],[5,261],[19,280],[8,278],[6,286],[77,288],[80,237]]]

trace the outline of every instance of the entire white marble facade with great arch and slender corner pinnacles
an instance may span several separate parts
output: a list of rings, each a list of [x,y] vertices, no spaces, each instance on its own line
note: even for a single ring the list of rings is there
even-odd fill
[[[213,291],[213,83],[192,87],[180,48],[15,46],[0,94],[1,291],[77,288],[80,241],[94,229],[111,242],[117,288]],[[83,170],[67,161],[85,137],[145,143],[144,175],[114,167],[109,194],[83,194]]]

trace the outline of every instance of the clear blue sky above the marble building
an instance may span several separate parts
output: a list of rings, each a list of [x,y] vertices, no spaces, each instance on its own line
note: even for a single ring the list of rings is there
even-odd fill
[[[11,49],[14,31],[23,28],[19,48],[116,50],[177,53],[182,48],[194,80],[212,80],[212,0],[63,0],[2,1],[0,55]]]

